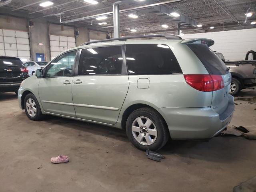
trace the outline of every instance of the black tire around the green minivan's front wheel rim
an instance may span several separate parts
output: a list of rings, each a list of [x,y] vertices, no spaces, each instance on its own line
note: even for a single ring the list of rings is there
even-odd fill
[[[26,103],[29,99],[32,99],[34,102],[35,102],[35,106],[36,106],[36,113],[34,116],[30,116],[30,114],[28,113],[28,110],[27,110],[27,106],[26,106]],[[44,115],[42,114],[42,111],[41,111],[41,108],[40,108],[40,105],[36,99],[36,97],[30,93],[30,94],[27,94],[25,99],[24,99],[24,103],[23,103],[23,106],[24,106],[24,110],[26,112],[26,115],[28,116],[28,118],[30,120],[33,120],[33,121],[39,121],[39,120],[42,120]]]

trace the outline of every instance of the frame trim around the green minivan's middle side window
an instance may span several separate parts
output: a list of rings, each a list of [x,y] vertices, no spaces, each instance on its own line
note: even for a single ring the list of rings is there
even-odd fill
[[[121,74],[90,74],[90,75],[78,75],[78,66],[79,66],[79,61],[80,61],[80,56],[81,56],[81,53],[82,53],[82,50],[83,49],[89,49],[89,48],[102,48],[102,47],[121,47],[122,49],[122,57],[123,57],[123,62],[122,62],[122,71],[121,71]],[[126,65],[126,55],[125,55],[125,45],[124,44],[117,44],[117,45],[106,45],[106,46],[93,46],[93,47],[84,47],[84,48],[81,48],[80,49],[80,53],[79,53],[79,56],[78,56],[78,60],[76,62],[76,68],[75,68],[75,74],[74,76],[123,76],[123,75],[128,75],[128,72],[127,72],[127,65]]]

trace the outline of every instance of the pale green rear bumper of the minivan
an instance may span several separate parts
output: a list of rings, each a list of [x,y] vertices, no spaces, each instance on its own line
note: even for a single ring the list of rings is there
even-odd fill
[[[218,135],[230,123],[234,98],[229,95],[228,107],[222,114],[210,107],[166,107],[158,109],[164,117],[172,139],[206,139]]]

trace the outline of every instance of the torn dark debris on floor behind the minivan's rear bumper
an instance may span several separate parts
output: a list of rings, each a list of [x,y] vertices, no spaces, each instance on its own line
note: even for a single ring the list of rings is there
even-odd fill
[[[234,128],[227,127],[227,130],[223,131],[221,136],[243,136],[246,139],[256,140],[256,130],[248,129],[243,126],[234,126]]]

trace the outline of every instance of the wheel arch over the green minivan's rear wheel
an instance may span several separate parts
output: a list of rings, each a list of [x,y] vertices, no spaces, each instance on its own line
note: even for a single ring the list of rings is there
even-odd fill
[[[168,128],[167,123],[164,119],[164,117],[162,116],[162,114],[160,114],[154,107],[147,105],[147,104],[142,104],[142,103],[137,103],[137,104],[132,104],[130,105],[128,108],[126,108],[126,110],[124,110],[124,113],[122,114],[122,120],[121,120],[121,127],[123,130],[126,130],[126,121],[128,119],[128,116],[134,111],[137,110],[139,108],[151,108],[153,110],[155,110],[164,120],[164,124],[166,126],[166,128]],[[168,130],[169,131],[169,130]]]

